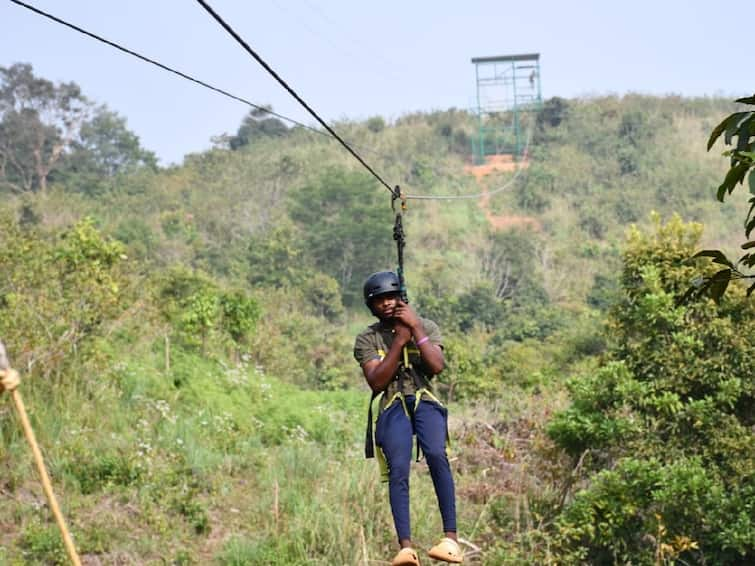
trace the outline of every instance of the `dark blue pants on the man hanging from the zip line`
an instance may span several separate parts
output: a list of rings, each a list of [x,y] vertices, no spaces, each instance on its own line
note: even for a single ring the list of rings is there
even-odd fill
[[[456,501],[454,480],[446,456],[447,416],[445,408],[432,401],[422,400],[414,410],[415,398],[406,397],[406,408],[396,401],[378,418],[375,444],[385,454],[388,463],[388,491],[393,522],[399,541],[411,539],[409,520],[409,467],[412,460],[412,436],[417,435],[435,495],[438,498],[444,532],[456,532]]]

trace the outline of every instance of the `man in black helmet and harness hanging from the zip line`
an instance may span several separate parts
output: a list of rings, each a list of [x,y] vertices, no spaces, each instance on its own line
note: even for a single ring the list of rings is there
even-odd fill
[[[428,555],[436,560],[461,563],[454,481],[446,455],[448,412],[430,386],[430,379],[445,365],[440,330],[401,300],[399,278],[391,271],[380,271],[367,278],[364,301],[378,322],[357,336],[354,357],[373,391],[372,400],[382,394],[374,439],[370,401],[365,454],[372,457],[377,447],[384,479],[388,481],[391,512],[401,546],[391,564],[419,566],[409,517],[409,468],[414,435],[417,457],[421,449],[427,459],[443,520],[444,536]]]

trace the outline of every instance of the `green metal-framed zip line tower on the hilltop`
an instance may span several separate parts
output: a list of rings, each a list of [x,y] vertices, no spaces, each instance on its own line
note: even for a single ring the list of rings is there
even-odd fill
[[[472,142],[475,162],[488,155],[523,157],[523,132],[534,125],[533,113],[543,104],[540,90],[540,54],[475,57],[478,135]]]

